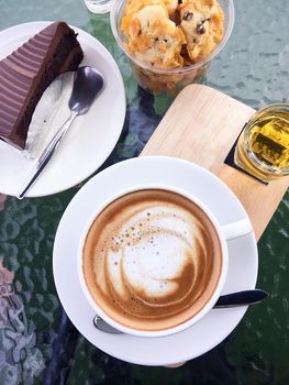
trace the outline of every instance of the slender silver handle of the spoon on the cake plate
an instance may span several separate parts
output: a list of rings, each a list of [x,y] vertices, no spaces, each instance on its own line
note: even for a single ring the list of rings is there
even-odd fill
[[[47,163],[53,157],[55,150],[57,148],[60,140],[64,138],[71,122],[77,117],[75,111],[71,111],[70,117],[63,123],[60,129],[55,133],[51,142],[47,144],[46,148],[41,154],[35,167],[32,170],[32,174],[29,176],[29,179],[25,182],[24,186],[21,189],[21,193],[18,195],[18,199],[23,199],[27,191],[33,186],[34,182],[37,179],[42,170],[45,168]]]

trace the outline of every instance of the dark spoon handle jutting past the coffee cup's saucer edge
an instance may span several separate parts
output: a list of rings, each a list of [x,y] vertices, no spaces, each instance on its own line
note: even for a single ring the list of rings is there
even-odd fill
[[[268,293],[260,289],[243,290],[221,296],[214,308],[232,308],[258,304],[268,297]]]

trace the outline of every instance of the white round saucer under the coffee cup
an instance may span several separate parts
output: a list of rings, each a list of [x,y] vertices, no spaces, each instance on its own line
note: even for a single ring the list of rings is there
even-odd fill
[[[219,344],[236,327],[246,308],[213,309],[178,334],[142,338],[97,330],[95,312],[78,283],[77,250],[84,227],[96,205],[116,190],[142,184],[169,184],[209,206],[220,224],[247,218],[235,195],[220,179],[190,162],[145,156],[113,165],[91,178],[68,205],[57,229],[53,270],[60,301],[76,328],[97,348],[120,360],[143,365],[169,365],[194,359]],[[223,293],[254,288],[258,255],[253,233],[229,242],[229,276]]]

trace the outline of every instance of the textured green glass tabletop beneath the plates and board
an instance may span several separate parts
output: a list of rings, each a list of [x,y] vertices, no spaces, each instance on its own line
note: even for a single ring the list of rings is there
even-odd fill
[[[213,61],[205,84],[256,109],[288,102],[288,0],[236,0],[235,11],[233,34]],[[102,168],[137,156],[170,100],[153,99],[137,89],[110,31],[109,16],[91,14],[81,0],[0,0],[0,30],[35,20],[65,20],[91,33],[111,52],[124,79],[127,116]],[[288,193],[258,242],[257,286],[270,298],[251,307],[219,346],[170,370],[107,355],[79,334],[60,306],[52,271],[53,242],[65,208],[82,184],[22,201],[0,195],[1,385],[289,384]]]

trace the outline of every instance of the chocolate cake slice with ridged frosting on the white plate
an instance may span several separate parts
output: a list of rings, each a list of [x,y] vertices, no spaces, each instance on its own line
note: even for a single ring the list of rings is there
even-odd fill
[[[25,147],[37,102],[58,75],[76,70],[84,53],[77,34],[55,22],[0,61],[0,139]]]

